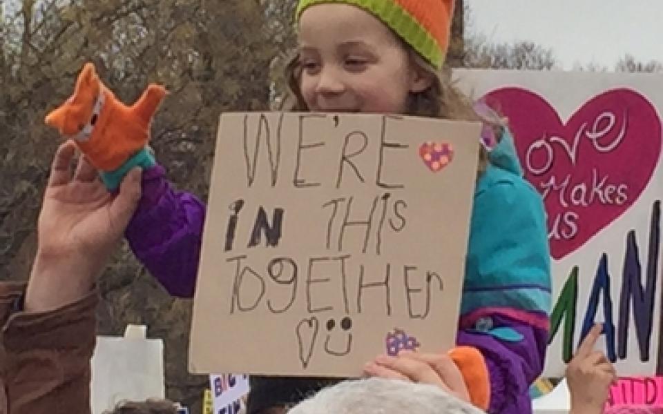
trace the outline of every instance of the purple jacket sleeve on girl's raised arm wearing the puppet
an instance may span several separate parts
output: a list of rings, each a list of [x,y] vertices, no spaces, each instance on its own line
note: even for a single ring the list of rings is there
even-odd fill
[[[198,276],[205,205],[176,192],[162,166],[143,173],[142,197],[126,229],[136,257],[177,297],[193,297]]]

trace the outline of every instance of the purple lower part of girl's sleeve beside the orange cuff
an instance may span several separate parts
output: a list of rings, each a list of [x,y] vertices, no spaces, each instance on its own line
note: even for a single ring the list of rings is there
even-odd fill
[[[494,315],[495,327],[506,326],[521,338],[499,339],[490,333],[459,331],[459,345],[474,346],[486,359],[490,375],[490,414],[532,413],[530,384],[544,368],[548,331]]]

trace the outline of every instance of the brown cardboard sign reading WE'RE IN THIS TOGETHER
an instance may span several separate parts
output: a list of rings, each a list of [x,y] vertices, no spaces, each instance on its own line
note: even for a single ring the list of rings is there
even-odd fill
[[[376,355],[452,347],[480,130],[223,115],[191,371],[347,377]]]

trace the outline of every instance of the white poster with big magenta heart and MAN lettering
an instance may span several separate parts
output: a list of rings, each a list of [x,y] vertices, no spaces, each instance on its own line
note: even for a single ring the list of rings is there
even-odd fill
[[[508,117],[526,178],[544,197],[553,256],[545,375],[595,322],[622,376],[663,371],[663,75],[459,71]]]

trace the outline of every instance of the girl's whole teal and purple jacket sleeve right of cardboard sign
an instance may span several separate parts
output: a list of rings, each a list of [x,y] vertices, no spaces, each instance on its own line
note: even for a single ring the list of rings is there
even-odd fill
[[[543,370],[551,306],[547,235],[536,190],[489,166],[474,197],[458,337],[486,360],[489,413],[531,412],[528,390]]]

